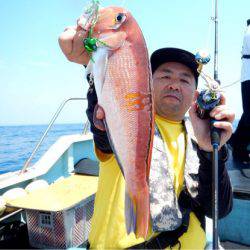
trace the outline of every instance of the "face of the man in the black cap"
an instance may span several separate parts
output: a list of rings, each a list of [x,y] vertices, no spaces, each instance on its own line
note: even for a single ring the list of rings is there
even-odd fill
[[[180,121],[189,109],[196,89],[194,75],[187,66],[167,62],[153,74],[156,113]]]

